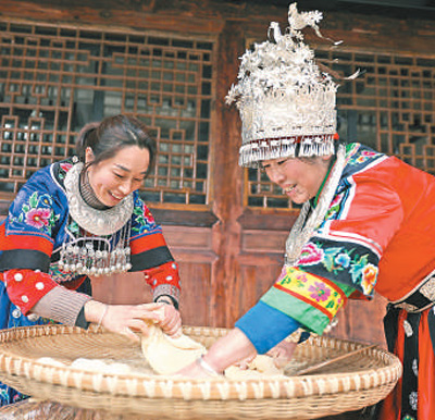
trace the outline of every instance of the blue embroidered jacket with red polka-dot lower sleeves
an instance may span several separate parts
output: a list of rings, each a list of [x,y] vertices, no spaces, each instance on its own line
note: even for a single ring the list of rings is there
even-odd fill
[[[0,224],[0,279],[7,284],[10,299],[24,314],[58,284],[75,289],[85,279],[84,275],[63,272],[58,264],[62,244],[80,235],[78,225],[69,218],[63,185],[71,168],[72,161],[65,160],[35,173],[21,188],[8,218]],[[138,192],[133,195],[129,271],[145,273],[154,299],[169,295],[177,304],[177,264],[161,226]]]

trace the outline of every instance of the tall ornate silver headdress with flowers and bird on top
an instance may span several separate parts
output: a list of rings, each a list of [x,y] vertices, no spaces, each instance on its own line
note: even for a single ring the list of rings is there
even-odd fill
[[[269,33],[274,41],[256,44],[241,57],[238,83],[226,102],[236,102],[243,122],[241,166],[257,168],[262,160],[334,153],[336,83],[314,62],[303,42],[306,26],[319,32],[319,11],[288,10],[285,35],[276,22]]]

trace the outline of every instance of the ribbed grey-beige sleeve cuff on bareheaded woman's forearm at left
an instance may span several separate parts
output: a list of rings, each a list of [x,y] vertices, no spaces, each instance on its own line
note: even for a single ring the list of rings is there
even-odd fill
[[[32,312],[65,325],[76,325],[82,308],[90,299],[90,296],[58,286],[44,296]]]

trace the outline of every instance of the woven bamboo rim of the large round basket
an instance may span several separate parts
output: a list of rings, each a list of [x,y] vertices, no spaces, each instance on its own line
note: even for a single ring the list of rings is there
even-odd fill
[[[183,326],[187,335],[206,335],[217,338],[228,329],[208,326]],[[351,373],[310,374],[300,376],[254,378],[254,379],[187,379],[182,376],[152,375],[142,373],[96,373],[70,367],[53,367],[38,362],[29,357],[15,355],[2,348],[3,343],[40,336],[69,334],[103,334],[101,329],[91,325],[87,331],[62,324],[32,325],[0,331],[0,380],[2,373],[18,376],[32,384],[51,383],[53,385],[92,392],[97,395],[122,395],[141,398],[209,400],[209,399],[262,399],[262,398],[301,398],[336,393],[363,392],[365,390],[394,386],[402,373],[400,360],[390,353],[374,347],[361,355],[376,357],[385,367],[371,368]],[[332,337],[310,338],[311,344],[320,347],[338,348],[349,346],[352,349],[364,344]],[[308,345],[308,344],[302,344]],[[366,355],[365,355],[366,354]],[[4,380],[8,383],[8,378]],[[37,390],[37,386],[35,386]],[[20,390],[18,390],[20,391]],[[37,392],[34,393],[37,397]]]

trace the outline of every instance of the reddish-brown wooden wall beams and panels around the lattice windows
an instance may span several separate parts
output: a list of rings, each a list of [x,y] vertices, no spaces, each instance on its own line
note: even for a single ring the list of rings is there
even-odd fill
[[[128,30],[176,32],[217,39],[213,69],[215,98],[210,151],[211,198],[202,209],[183,211],[152,206],[162,223],[183,281],[182,316],[186,324],[232,326],[234,321],[270,287],[283,262],[284,243],[296,211],[251,209],[244,200],[245,172],[237,165],[240,122],[237,111],[224,103],[236,81],[247,39],[264,40],[271,21],[286,26],[286,8],[227,3],[211,0],[2,0],[1,18],[116,27]],[[327,13],[322,32],[346,46],[364,51],[425,53],[434,46],[431,22]],[[312,36],[307,36],[313,39]],[[1,198],[1,197],[0,197]],[[3,217],[8,200],[3,200]],[[108,282],[110,287],[108,287]],[[96,284],[96,293],[110,302],[139,302],[149,288],[137,275],[117,276]],[[385,301],[350,302],[339,314],[332,335],[384,345],[382,317]]]

